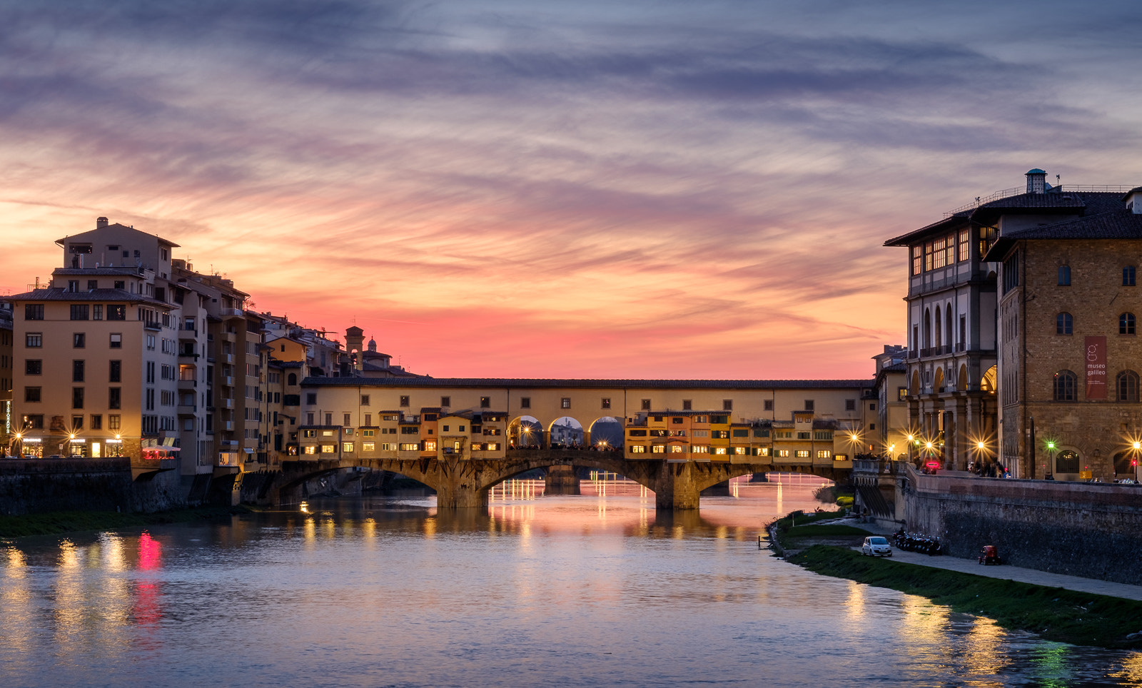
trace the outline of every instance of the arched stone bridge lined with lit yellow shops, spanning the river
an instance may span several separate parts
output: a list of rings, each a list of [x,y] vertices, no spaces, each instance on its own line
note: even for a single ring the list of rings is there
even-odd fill
[[[872,443],[870,390],[870,379],[308,377],[291,461],[268,497],[368,466],[435,489],[440,507],[483,506],[504,480],[571,466],[622,474],[660,510],[698,509],[702,489],[747,473],[845,480]]]

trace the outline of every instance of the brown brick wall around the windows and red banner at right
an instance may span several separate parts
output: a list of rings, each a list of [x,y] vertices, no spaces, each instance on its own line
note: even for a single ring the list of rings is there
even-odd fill
[[[1142,405],[1118,401],[1115,390],[1118,373],[1142,374],[1142,280],[1123,286],[1124,266],[1142,267],[1142,241],[1037,240],[1024,241],[1019,249],[1024,286],[1004,295],[1000,305],[1000,331],[1005,318],[1018,314],[1019,322],[1019,337],[1005,342],[1000,350],[1000,368],[1018,370],[1015,384],[1020,386],[1018,402],[1003,408],[1005,443],[1012,442],[1019,453],[1020,477],[1030,477],[1027,442],[1029,418],[1034,417],[1036,478],[1043,478],[1051,463],[1046,441],[1053,440],[1055,455],[1077,451],[1080,469],[1110,480],[1115,455],[1142,432]],[[1057,283],[1061,265],[1070,266],[1070,286]],[[1124,312],[1140,319],[1137,334],[1119,334],[1118,317]],[[1072,318],[1070,335],[1056,334],[1060,313]],[[1084,339],[1088,336],[1107,337],[1105,400],[1086,399]],[[1077,401],[1054,401],[1054,375],[1061,370],[1078,378]],[[1000,385],[1004,382],[1000,379]]]

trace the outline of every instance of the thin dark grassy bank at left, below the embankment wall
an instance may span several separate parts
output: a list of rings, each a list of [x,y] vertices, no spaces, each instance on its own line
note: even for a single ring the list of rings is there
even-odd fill
[[[0,515],[0,537],[26,535],[63,535],[85,530],[120,530],[159,523],[183,523],[249,513],[246,506],[200,506],[155,513],[118,513],[114,511],[56,511],[26,515]]]

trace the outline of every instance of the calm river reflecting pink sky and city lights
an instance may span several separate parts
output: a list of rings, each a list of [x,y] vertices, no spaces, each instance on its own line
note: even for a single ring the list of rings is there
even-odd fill
[[[0,686],[1142,685],[1140,654],[758,551],[811,488],[674,518],[622,491],[521,489],[459,515],[338,498],[0,543]]]

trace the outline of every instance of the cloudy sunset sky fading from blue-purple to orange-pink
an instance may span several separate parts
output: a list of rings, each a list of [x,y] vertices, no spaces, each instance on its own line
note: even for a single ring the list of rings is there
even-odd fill
[[[868,377],[885,239],[1142,184],[1142,3],[0,0],[0,293],[97,216],[415,373]]]

